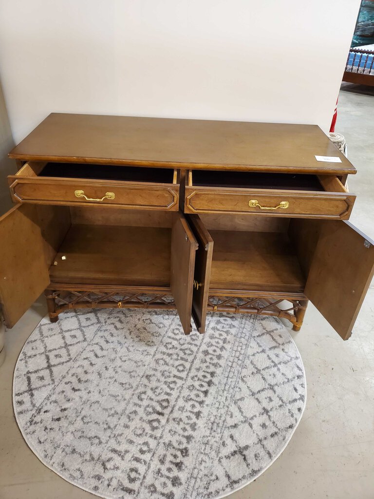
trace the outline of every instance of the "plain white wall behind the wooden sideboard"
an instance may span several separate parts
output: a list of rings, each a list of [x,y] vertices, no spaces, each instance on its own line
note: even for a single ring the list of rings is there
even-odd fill
[[[1,0],[19,142],[50,112],[317,123],[360,0]]]

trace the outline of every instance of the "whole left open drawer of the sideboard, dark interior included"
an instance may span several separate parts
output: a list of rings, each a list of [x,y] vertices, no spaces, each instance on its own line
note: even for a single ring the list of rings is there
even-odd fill
[[[15,203],[178,211],[177,170],[28,162],[8,181]]]

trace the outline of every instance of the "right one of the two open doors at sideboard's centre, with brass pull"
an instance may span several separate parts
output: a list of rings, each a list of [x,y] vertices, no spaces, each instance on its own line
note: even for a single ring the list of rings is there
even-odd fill
[[[198,243],[192,293],[192,317],[199,333],[205,332],[206,308],[209,296],[213,240],[198,215],[188,217]]]

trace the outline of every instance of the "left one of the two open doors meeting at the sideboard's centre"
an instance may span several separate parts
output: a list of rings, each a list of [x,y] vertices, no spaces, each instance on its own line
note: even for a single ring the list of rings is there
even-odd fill
[[[172,229],[170,287],[185,334],[191,332],[193,269],[197,246],[184,215],[176,214]]]

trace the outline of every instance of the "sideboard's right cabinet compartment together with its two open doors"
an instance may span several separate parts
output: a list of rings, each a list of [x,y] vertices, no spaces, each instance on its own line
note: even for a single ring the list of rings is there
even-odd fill
[[[223,218],[188,216],[198,243],[192,317],[200,333],[208,298],[299,296],[312,301],[343,339],[351,336],[374,275],[374,241],[345,221],[275,224],[268,217],[244,224],[230,217],[228,225]]]

